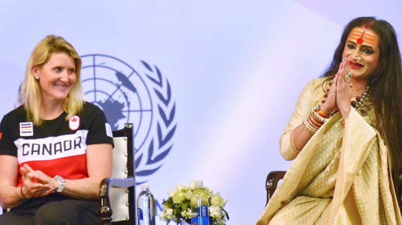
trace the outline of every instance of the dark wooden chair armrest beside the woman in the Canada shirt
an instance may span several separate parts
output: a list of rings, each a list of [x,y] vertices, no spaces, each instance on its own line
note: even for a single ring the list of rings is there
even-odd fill
[[[103,225],[110,225],[112,222],[113,210],[110,204],[109,193],[111,187],[132,187],[135,185],[134,177],[128,177],[125,179],[119,178],[105,178],[100,182],[99,197],[100,197],[100,209],[99,218]]]

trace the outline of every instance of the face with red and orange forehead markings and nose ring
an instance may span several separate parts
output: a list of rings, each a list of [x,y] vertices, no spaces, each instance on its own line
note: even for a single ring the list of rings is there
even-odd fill
[[[379,60],[379,37],[371,29],[355,27],[346,40],[342,57],[348,61],[352,79],[369,80]]]

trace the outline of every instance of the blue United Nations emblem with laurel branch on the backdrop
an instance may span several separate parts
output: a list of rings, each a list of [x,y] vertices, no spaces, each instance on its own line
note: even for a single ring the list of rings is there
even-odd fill
[[[146,176],[161,167],[172,148],[175,103],[168,80],[158,67],[144,61],[135,70],[108,55],[84,55],[81,59],[85,100],[104,110],[112,130],[134,124],[136,181],[146,182]]]

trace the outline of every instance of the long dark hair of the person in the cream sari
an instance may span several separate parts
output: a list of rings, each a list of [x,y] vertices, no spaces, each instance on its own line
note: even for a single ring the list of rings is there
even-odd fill
[[[379,62],[370,77],[370,95],[373,98],[375,128],[385,139],[391,156],[392,179],[400,207],[398,177],[402,164],[402,65],[400,51],[393,27],[374,17],[359,17],[346,25],[332,62],[322,77],[336,74],[349,33],[355,27],[372,23],[370,29],[379,36]]]

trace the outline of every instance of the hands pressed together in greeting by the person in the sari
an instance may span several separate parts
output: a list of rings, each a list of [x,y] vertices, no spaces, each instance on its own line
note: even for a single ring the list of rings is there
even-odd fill
[[[321,106],[321,110],[327,114],[338,108],[344,121],[349,116],[350,99],[352,98],[352,90],[349,86],[350,80],[345,81],[345,76],[348,73],[348,62],[346,58],[343,58],[335,75],[334,83],[328,91],[327,99]]]

